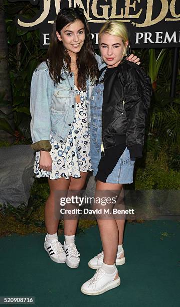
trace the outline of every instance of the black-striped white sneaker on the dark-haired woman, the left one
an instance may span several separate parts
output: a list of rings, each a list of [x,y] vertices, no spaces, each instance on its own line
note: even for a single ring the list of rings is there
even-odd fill
[[[51,260],[57,263],[66,262],[66,254],[63,250],[63,245],[59,241],[47,242],[45,237],[44,248],[49,254]]]

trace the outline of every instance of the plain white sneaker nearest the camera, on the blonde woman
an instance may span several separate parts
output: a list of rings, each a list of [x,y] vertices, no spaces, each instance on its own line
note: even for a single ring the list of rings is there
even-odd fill
[[[102,268],[99,268],[91,279],[83,283],[81,292],[87,295],[99,295],[119,286],[120,277],[114,280],[117,273],[117,268],[113,274],[107,274]]]

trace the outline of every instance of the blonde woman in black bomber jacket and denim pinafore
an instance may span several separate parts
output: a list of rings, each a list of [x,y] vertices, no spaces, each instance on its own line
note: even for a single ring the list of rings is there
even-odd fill
[[[91,163],[97,179],[96,196],[120,195],[133,182],[136,158],[142,156],[151,83],[144,71],[128,62],[128,32],[120,21],[108,21],[99,33],[106,68],[91,96]],[[96,208],[101,206],[96,205]],[[113,204],[109,205],[112,209]],[[81,291],[98,295],[120,285],[116,265],[125,263],[122,248],[124,218],[97,215],[103,251],[89,261],[97,269]]]

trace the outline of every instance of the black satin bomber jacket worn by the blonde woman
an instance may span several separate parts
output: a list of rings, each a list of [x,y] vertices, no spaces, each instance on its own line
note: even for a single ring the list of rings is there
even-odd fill
[[[123,60],[104,80],[102,106],[104,149],[126,143],[131,159],[142,156],[145,120],[151,95],[152,86],[149,77],[137,64],[127,60]]]

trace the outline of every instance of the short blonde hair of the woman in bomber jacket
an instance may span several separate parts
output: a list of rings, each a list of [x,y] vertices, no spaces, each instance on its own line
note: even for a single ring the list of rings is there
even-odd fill
[[[115,35],[118,36],[122,39],[123,44],[125,42],[129,41],[129,34],[127,31],[127,28],[125,24],[119,20],[108,20],[101,28],[99,31],[99,36],[98,36],[98,44],[100,45],[100,40],[102,34],[110,34],[110,35]],[[127,45],[128,47],[128,45]],[[127,55],[127,47],[124,46],[124,52],[123,52],[123,57]]]

